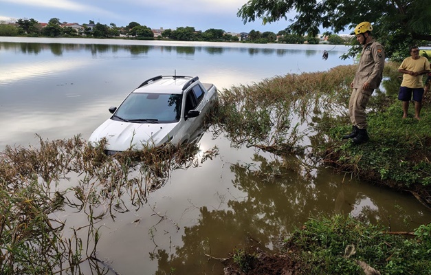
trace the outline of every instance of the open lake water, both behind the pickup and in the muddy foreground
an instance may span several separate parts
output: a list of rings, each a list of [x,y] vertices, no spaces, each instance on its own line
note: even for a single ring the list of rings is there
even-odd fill
[[[326,61],[324,50],[329,51]],[[222,92],[273,76],[353,64],[339,58],[347,50],[342,45],[0,37],[0,151],[38,144],[36,133],[43,140],[78,134],[87,139],[109,118],[109,107],[153,76],[199,76]],[[267,178],[256,171],[278,162],[277,156],[232,148],[223,135],[205,133],[201,150],[213,146],[219,147],[216,158],[175,170],[148,196],[146,207],[104,220],[98,257],[120,274],[221,274],[221,263],[208,261],[206,254],[225,258],[250,240],[272,248],[280,235],[318,213],[350,213],[393,231],[431,220],[414,198],[331,169],[317,168],[311,178],[294,170]],[[71,213],[60,218],[80,223]]]

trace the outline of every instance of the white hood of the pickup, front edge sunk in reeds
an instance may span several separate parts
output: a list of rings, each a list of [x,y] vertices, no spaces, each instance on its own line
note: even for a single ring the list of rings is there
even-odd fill
[[[106,150],[126,151],[129,148],[140,150],[148,144],[159,146],[173,138],[175,126],[178,123],[131,123],[117,120],[107,120],[93,131],[89,142],[96,146],[106,137]]]

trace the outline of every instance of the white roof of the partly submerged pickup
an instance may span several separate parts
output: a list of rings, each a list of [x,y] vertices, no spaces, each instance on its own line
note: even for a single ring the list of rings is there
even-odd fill
[[[155,76],[146,80],[133,93],[182,94],[192,76]]]

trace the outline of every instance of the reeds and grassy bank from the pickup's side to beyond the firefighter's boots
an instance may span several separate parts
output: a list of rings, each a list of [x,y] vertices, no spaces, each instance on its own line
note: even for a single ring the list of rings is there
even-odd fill
[[[298,159],[306,172],[331,165],[340,173],[409,190],[431,209],[430,100],[423,104],[420,122],[401,118],[398,66],[385,65],[385,91],[376,89],[367,109],[371,141],[361,146],[341,139],[351,129],[347,107],[357,65],[225,89],[215,128],[224,131],[233,146],[302,156]]]

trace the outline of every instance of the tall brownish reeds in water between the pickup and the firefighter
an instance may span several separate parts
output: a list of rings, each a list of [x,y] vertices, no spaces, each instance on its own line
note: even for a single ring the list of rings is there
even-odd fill
[[[281,153],[298,152],[315,130],[317,116],[346,117],[355,66],[328,72],[287,74],[253,85],[224,89],[219,96],[216,127],[234,146],[257,146]]]

